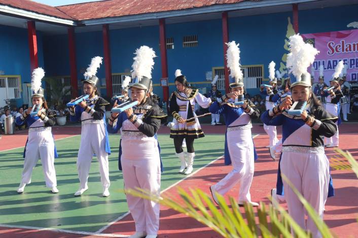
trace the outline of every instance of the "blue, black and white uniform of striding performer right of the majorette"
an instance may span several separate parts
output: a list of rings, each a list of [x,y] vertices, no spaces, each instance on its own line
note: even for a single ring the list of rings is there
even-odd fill
[[[251,133],[253,127],[251,118],[258,118],[260,115],[255,104],[248,99],[245,101],[248,107],[244,110],[241,106],[235,106],[233,101],[228,100],[224,95],[209,107],[211,113],[224,114],[227,126],[227,146],[233,166],[233,170],[229,174],[211,186],[211,191],[213,194],[216,191],[224,195],[240,181],[238,195],[240,205],[244,202],[252,203],[249,188],[254,176],[255,147]],[[213,197],[215,196],[213,195]]]

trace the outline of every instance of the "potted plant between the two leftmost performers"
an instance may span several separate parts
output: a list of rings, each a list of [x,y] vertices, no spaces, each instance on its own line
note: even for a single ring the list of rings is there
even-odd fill
[[[57,125],[63,126],[66,124],[66,115],[68,114],[68,111],[65,110],[66,104],[63,101],[66,98],[69,99],[68,93],[71,92],[71,88],[68,85],[58,85],[57,82],[51,78],[46,78],[45,81],[50,85],[50,104],[56,111]]]

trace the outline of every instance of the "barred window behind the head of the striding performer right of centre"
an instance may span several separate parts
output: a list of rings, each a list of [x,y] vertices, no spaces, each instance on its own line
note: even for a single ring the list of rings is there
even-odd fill
[[[246,89],[260,88],[263,80],[263,65],[241,65],[243,74],[243,83]],[[230,72],[230,71],[229,71]],[[217,87],[219,90],[225,90],[225,70],[224,67],[213,67],[212,77],[219,75]]]

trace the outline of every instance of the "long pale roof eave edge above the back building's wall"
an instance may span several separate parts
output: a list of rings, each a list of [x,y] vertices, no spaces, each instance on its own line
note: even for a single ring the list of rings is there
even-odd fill
[[[175,11],[81,20],[81,23],[87,26],[98,25],[98,24],[111,24],[111,23],[120,23],[120,22],[153,20],[153,19],[161,19],[161,18],[169,18],[169,17],[181,17],[181,16],[198,15],[198,14],[215,13],[215,12],[235,11],[235,10],[243,10],[243,9],[250,9],[250,8],[272,7],[272,6],[307,3],[307,2],[315,2],[315,1],[319,1],[319,0],[289,0],[289,1],[263,0],[258,2],[245,1],[236,4],[217,4],[207,7],[190,8],[190,9],[175,10]]]

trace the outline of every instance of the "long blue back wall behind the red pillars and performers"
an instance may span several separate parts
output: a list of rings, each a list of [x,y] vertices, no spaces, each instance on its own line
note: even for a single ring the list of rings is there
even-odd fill
[[[346,25],[356,20],[354,14],[357,10],[358,5],[351,5],[300,11],[300,32],[346,30]],[[242,65],[263,64],[264,78],[268,77],[268,64],[271,60],[276,63],[276,68],[279,68],[282,55],[288,53],[283,48],[288,17],[292,23],[292,12],[229,18],[229,39],[240,44]],[[189,82],[202,82],[205,81],[206,71],[224,65],[221,24],[221,19],[218,19],[166,25],[166,36],[174,39],[174,49],[167,50],[169,83],[173,83],[174,71],[177,68],[182,70]],[[198,35],[198,47],[183,48],[183,37],[194,34]],[[135,49],[147,45],[152,47],[158,56],[155,58],[152,76],[154,83],[159,83],[159,26],[111,30],[110,37],[113,73],[131,69]],[[67,45],[66,35],[46,37],[44,47],[47,72],[53,75],[69,74]],[[103,56],[102,32],[77,33],[76,53],[78,76],[83,78],[83,72],[91,58],[96,55]],[[105,77],[103,65],[97,74],[101,78]],[[210,87],[209,84],[196,86]],[[170,92],[174,89],[174,86],[169,88]],[[248,92],[256,94],[258,90]],[[102,90],[102,93],[105,91]],[[155,87],[154,93],[162,97],[161,87]]]

